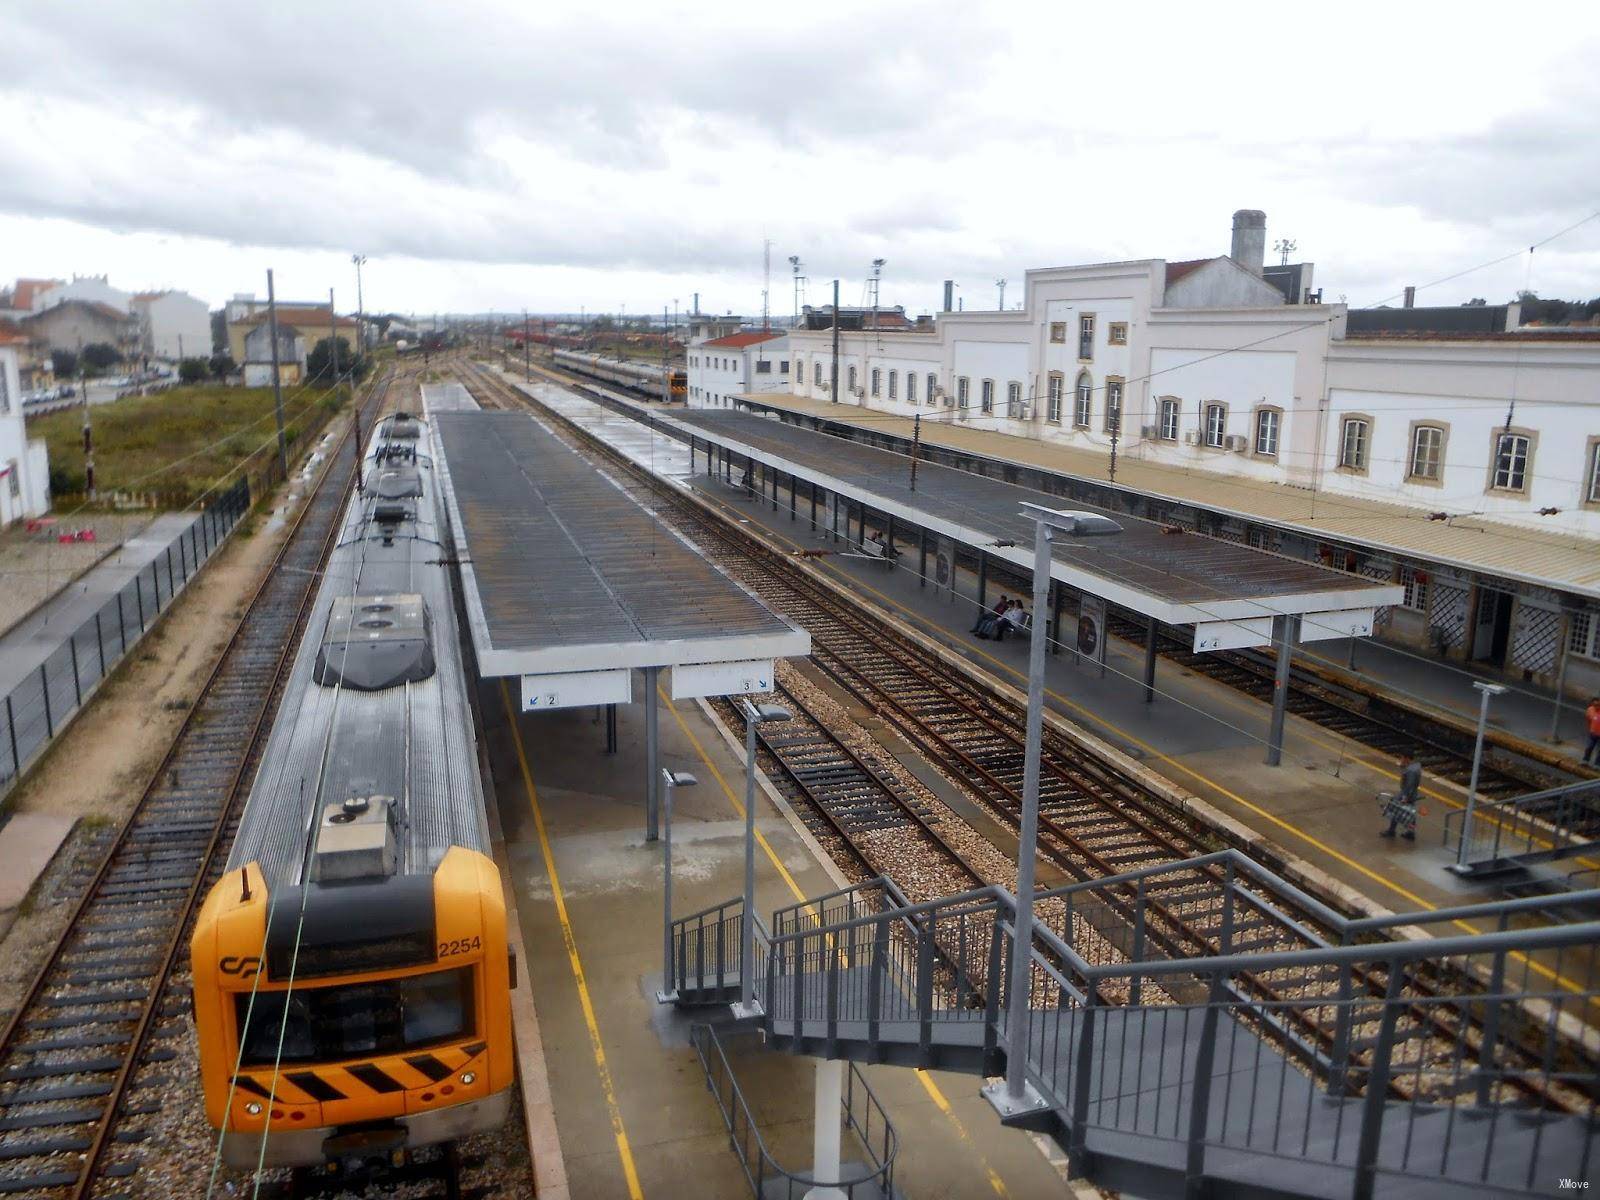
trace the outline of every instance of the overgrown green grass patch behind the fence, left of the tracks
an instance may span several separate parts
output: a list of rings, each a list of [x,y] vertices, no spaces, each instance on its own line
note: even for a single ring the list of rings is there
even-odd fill
[[[349,398],[349,389],[293,387],[283,395],[283,424],[293,440]],[[157,493],[181,506],[224,480],[275,440],[270,387],[198,384],[128,397],[90,410],[94,429],[94,486],[101,493]],[[51,490],[83,491],[83,410],[27,422],[29,437],[50,445]]]

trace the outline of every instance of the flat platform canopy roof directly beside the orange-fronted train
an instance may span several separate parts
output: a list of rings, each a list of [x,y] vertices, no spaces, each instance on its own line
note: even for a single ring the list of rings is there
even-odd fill
[[[522,678],[523,709],[773,688],[811,637],[709,563],[526,413],[429,411],[467,626],[485,677]]]

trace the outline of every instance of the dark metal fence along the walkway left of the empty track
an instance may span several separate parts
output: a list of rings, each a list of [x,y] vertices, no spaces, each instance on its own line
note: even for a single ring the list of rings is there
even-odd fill
[[[43,754],[246,512],[250,482],[240,478],[218,493],[187,530],[5,696],[0,704],[0,795]]]

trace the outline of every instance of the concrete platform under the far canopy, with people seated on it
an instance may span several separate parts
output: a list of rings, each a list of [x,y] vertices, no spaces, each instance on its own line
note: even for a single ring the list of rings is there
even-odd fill
[[[525,390],[602,435],[618,430],[616,413],[557,384],[534,382]],[[674,458],[677,443],[656,435],[651,445],[648,430],[637,424],[618,445],[638,462],[653,461],[658,470],[686,466],[682,446]],[[770,498],[749,498],[739,486],[707,478],[704,469],[694,477],[680,475],[675,483],[702,494],[734,520],[771,530],[792,549],[834,546],[826,530],[811,531],[808,504],[798,514],[787,512],[787,493],[774,512]],[[894,570],[840,555],[813,563],[1000,680],[1026,686],[1024,642],[979,642],[968,634],[976,614],[976,579],[970,573],[958,574],[950,600],[934,600],[933,589],[918,586],[914,554],[904,555]],[[990,582],[990,598],[1000,590]],[[1107,658],[1104,677],[1069,654],[1048,659],[1050,707],[1206,800],[1282,853],[1302,859],[1334,885],[1354,888],[1384,909],[1406,912],[1491,899],[1445,870],[1450,856],[1440,845],[1443,814],[1464,800],[1454,784],[1424,781],[1416,843],[1379,838],[1382,824],[1374,797],[1394,789],[1395,760],[1290,715],[1283,765],[1266,766],[1267,706],[1168,661],[1157,667],[1155,702],[1144,704],[1142,650],[1112,638]]]

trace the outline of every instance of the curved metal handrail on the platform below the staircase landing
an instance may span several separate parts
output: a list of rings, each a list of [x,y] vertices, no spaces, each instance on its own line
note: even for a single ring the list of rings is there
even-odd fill
[[[894,1160],[899,1157],[899,1133],[894,1130],[882,1101],[878,1101],[866,1075],[861,1074],[856,1064],[850,1064],[850,1072],[845,1077],[842,1110],[845,1114],[845,1128],[856,1134],[856,1141],[866,1152],[867,1162],[850,1174],[842,1173],[838,1179],[819,1179],[814,1171],[790,1171],[773,1157],[766,1139],[762,1136],[755,1114],[744,1099],[744,1090],[733,1074],[733,1064],[728,1062],[728,1051],[722,1045],[717,1029],[714,1026],[694,1026],[690,1032],[690,1040],[706,1072],[706,1086],[722,1110],[722,1122],[728,1128],[728,1141],[739,1155],[739,1166],[750,1184],[752,1195],[758,1198],[773,1195],[770,1186],[778,1181],[782,1181],[786,1197],[803,1195],[813,1187],[837,1187],[846,1197],[854,1197],[858,1189],[870,1189],[872,1194],[878,1195],[894,1194]],[[726,1080],[726,1099],[723,1099],[722,1088],[718,1086],[718,1077]],[[864,1117],[856,1114],[858,1094],[864,1098]],[[882,1152],[874,1146],[874,1114],[878,1122],[878,1136],[882,1136]],[[741,1138],[741,1130],[749,1141]]]

